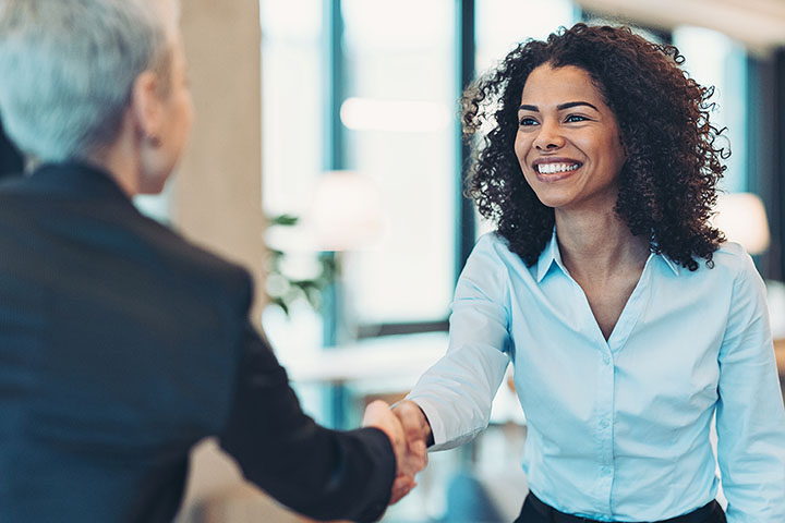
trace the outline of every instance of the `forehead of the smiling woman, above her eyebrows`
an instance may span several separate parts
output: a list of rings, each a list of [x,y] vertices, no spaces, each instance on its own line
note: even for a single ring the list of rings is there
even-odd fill
[[[580,68],[553,68],[545,63],[529,73],[521,93],[521,104],[540,106],[565,101],[604,105],[603,95],[594,85],[591,75]]]

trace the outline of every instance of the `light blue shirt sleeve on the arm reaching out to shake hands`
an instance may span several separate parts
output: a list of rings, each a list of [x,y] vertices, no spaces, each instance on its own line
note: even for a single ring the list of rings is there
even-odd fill
[[[491,404],[509,364],[507,269],[483,236],[458,280],[447,354],[407,397],[427,417],[431,450],[457,447],[485,429]]]

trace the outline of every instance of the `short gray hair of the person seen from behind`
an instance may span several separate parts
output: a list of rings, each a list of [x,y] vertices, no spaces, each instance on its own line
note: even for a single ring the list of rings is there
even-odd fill
[[[0,0],[0,117],[38,161],[114,142],[135,78],[169,80],[178,0]]]

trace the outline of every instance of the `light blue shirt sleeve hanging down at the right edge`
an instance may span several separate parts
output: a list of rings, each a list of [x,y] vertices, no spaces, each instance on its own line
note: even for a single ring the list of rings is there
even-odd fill
[[[745,264],[720,349],[717,460],[728,523],[775,523],[785,521],[785,410],[765,288]]]

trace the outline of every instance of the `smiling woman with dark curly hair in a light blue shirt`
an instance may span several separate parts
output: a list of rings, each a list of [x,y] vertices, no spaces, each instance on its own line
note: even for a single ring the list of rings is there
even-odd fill
[[[709,222],[727,151],[712,89],[683,61],[627,27],[577,24],[464,94],[468,194],[497,229],[461,273],[447,354],[395,412],[432,450],[461,445],[511,361],[519,522],[785,521],[764,287]]]

